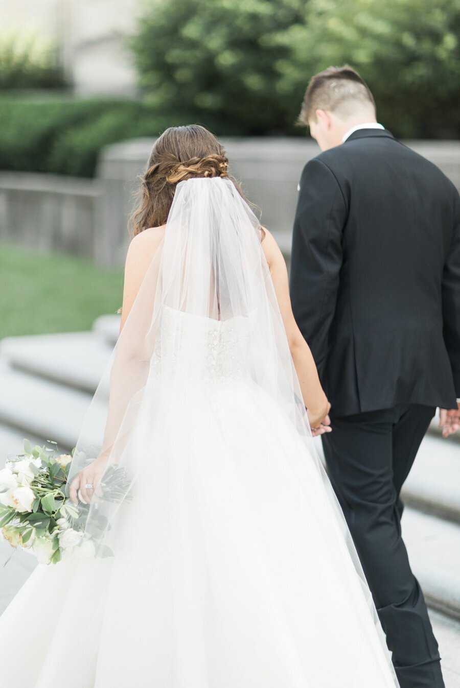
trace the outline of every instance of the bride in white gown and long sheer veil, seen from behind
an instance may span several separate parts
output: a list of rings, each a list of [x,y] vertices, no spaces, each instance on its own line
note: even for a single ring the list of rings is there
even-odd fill
[[[67,482],[109,556],[36,567],[0,618],[2,685],[394,688],[284,259],[209,131],[156,141],[134,234]]]

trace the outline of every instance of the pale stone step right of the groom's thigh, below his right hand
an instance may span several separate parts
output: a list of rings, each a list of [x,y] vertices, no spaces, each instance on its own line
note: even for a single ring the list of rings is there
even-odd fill
[[[427,435],[402,491],[406,504],[460,524],[460,448]]]

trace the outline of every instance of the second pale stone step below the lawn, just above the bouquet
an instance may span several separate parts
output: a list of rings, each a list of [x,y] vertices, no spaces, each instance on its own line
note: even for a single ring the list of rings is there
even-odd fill
[[[62,451],[75,446],[90,394],[13,369],[5,361],[0,361],[0,389],[1,424],[24,437],[54,440]]]

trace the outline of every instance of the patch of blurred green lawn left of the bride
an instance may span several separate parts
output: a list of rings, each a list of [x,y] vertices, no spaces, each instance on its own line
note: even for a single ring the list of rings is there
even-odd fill
[[[0,243],[0,338],[89,330],[121,306],[123,270]]]

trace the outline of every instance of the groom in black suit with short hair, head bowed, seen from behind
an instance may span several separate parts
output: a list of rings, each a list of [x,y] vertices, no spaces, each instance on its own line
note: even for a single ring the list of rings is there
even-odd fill
[[[351,67],[314,76],[300,120],[295,319],[331,402],[322,436],[401,688],[441,688],[438,645],[401,539],[399,497],[435,408],[460,424],[460,199],[375,118]]]

